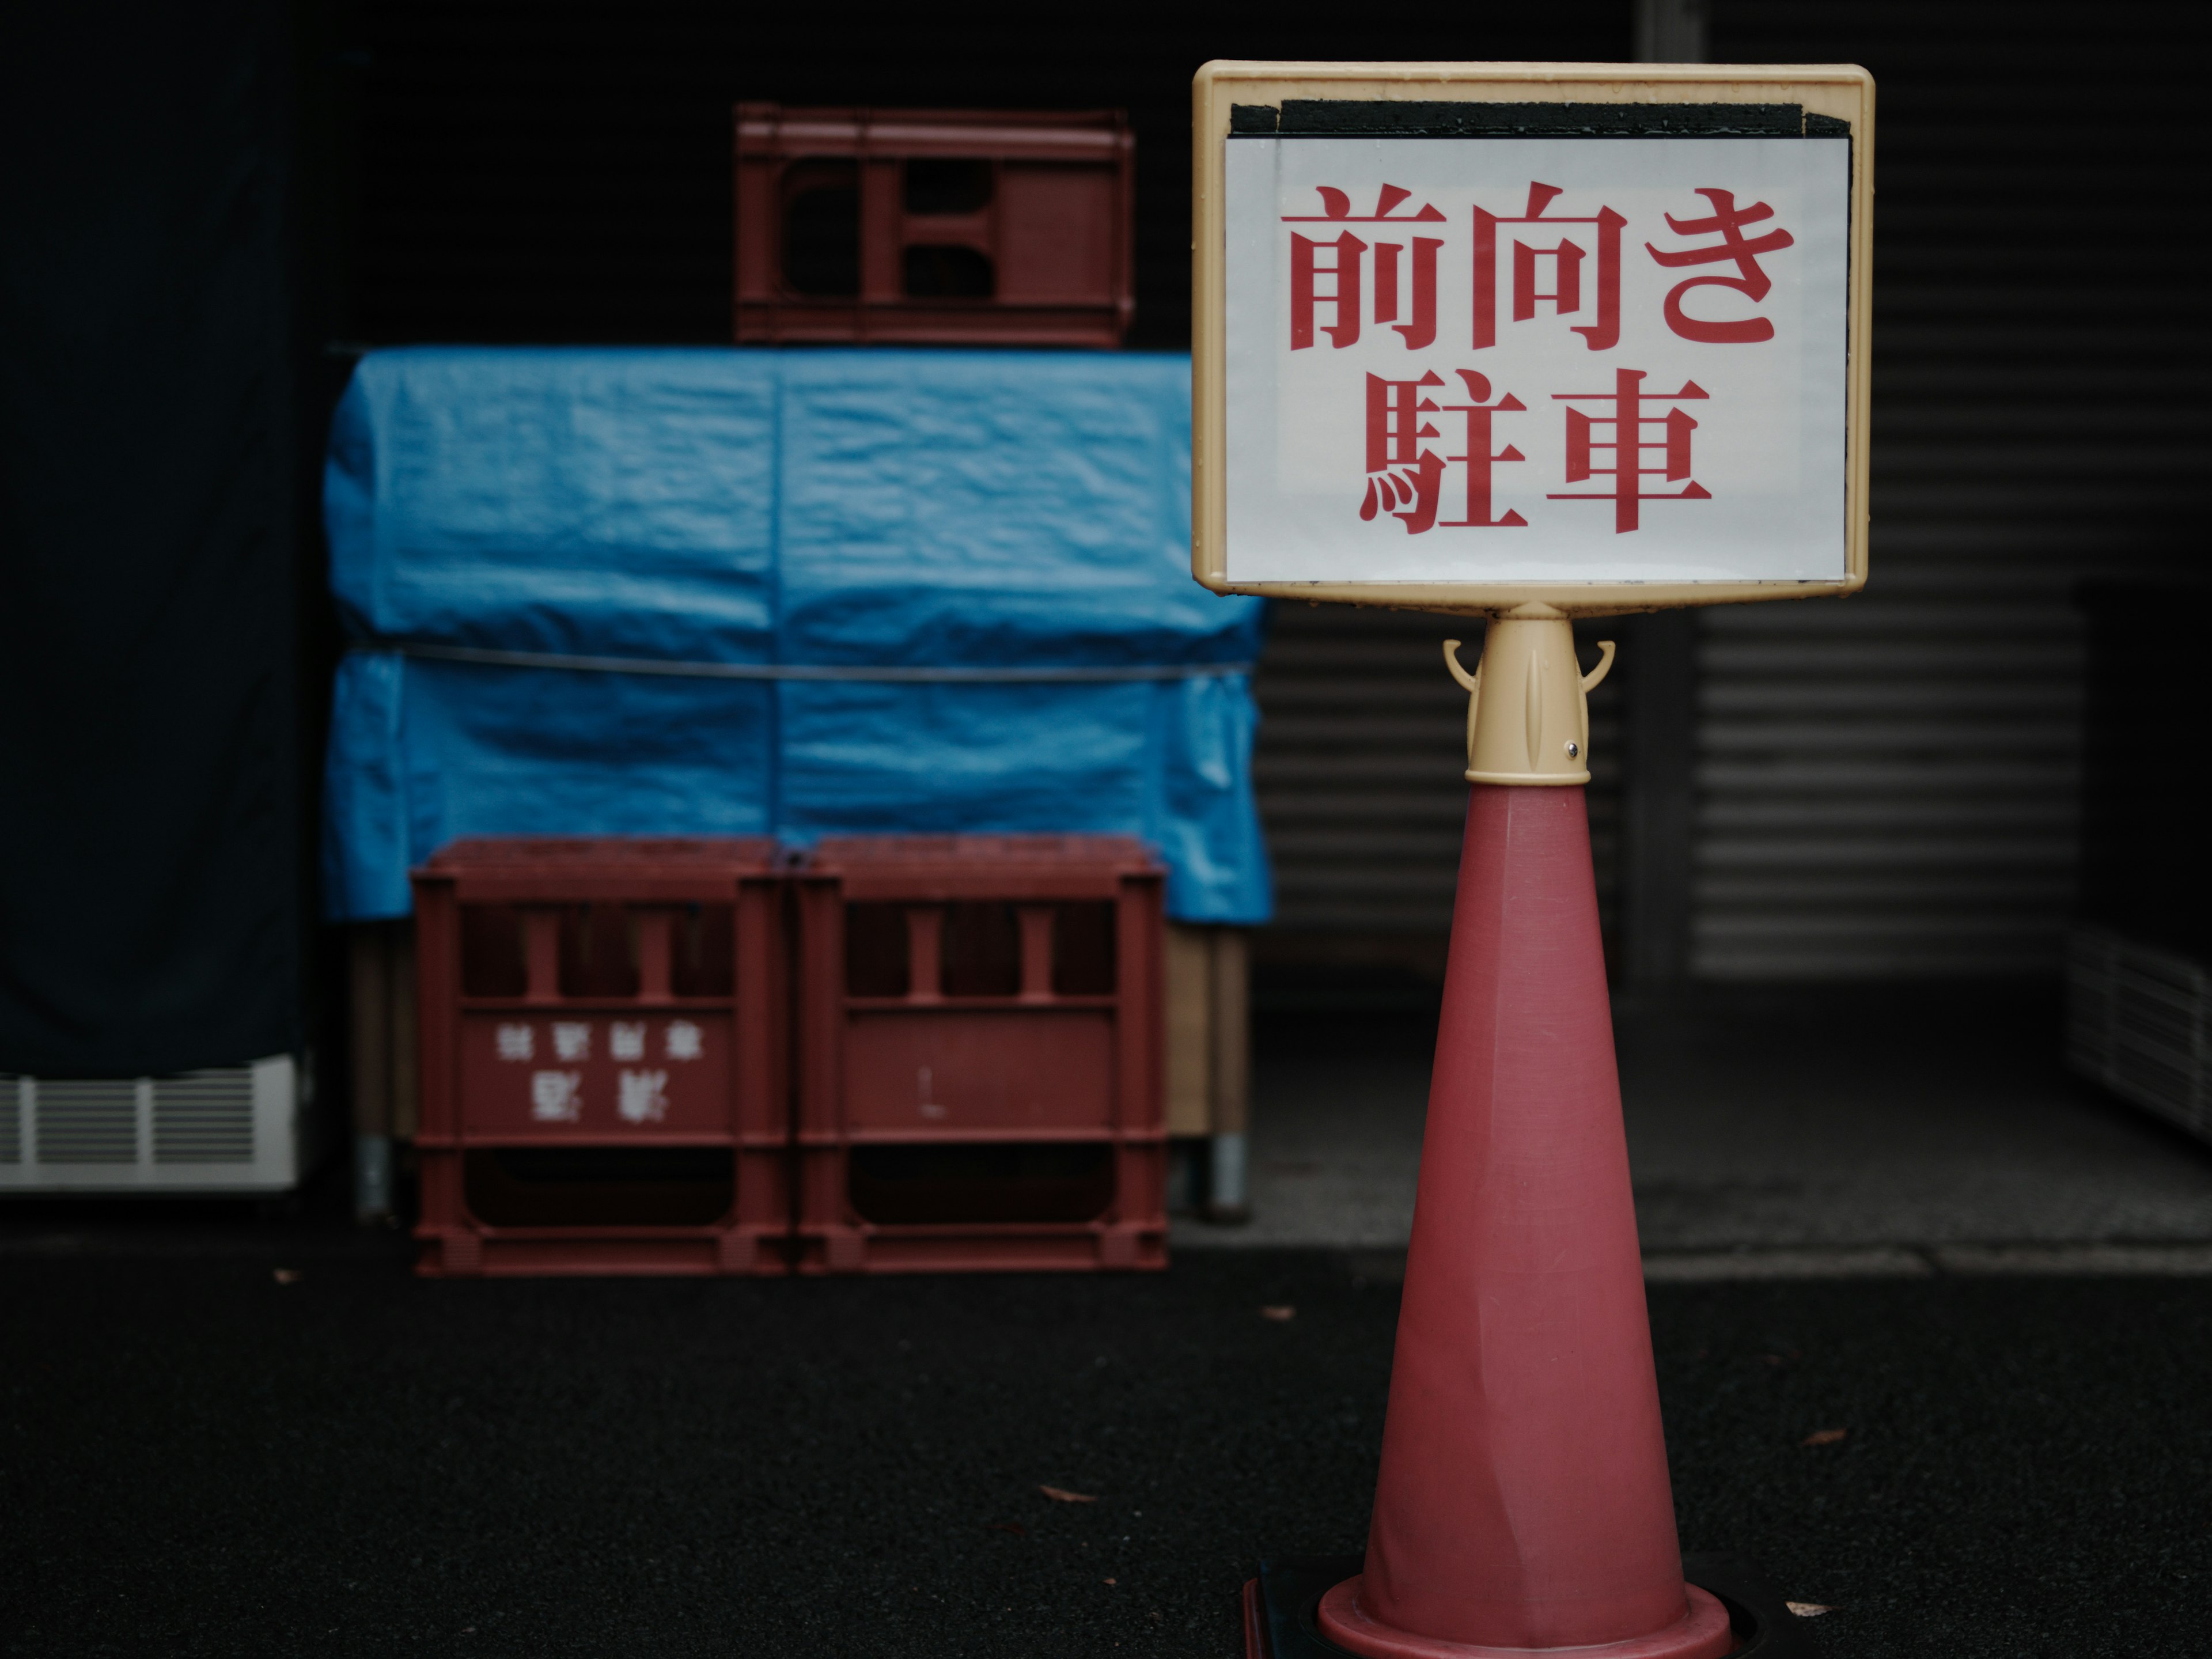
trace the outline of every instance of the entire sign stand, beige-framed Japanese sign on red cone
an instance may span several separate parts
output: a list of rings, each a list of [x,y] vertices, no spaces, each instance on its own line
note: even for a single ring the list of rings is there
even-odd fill
[[[1867,580],[1874,82],[1854,66],[1208,64],[1192,568],[1486,617],[1365,1557],[1259,1659],[1778,1659],[1683,1559],[1597,936],[1573,619]]]

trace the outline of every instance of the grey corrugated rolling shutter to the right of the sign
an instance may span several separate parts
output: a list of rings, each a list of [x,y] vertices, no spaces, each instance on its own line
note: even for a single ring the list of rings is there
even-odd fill
[[[1699,978],[2055,973],[2086,573],[2194,555],[2197,4],[1717,0],[1721,62],[1878,84],[1874,553],[1699,619]]]

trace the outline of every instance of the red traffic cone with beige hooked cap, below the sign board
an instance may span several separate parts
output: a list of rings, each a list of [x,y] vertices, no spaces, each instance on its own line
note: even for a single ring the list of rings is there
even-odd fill
[[[1367,1571],[1316,1610],[1369,1659],[1734,1646],[1721,1601],[1683,1584],[1644,1310],[1582,794],[1606,666],[1582,681],[1564,619],[1493,622],[1471,684]]]

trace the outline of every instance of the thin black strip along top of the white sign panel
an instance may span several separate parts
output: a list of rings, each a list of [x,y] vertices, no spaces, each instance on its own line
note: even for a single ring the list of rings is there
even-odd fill
[[[1230,137],[1849,137],[1801,104],[1413,104],[1285,97],[1230,104]]]

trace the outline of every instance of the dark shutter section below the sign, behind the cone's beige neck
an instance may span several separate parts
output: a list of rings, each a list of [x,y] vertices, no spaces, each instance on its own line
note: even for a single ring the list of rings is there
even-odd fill
[[[1613,628],[1577,628],[1588,641]],[[1480,617],[1276,604],[1254,681],[1254,774],[1274,856],[1276,927],[1442,933],[1467,821],[1467,692],[1444,670],[1482,650]],[[1619,816],[1613,681],[1590,695],[1590,854],[1610,922]],[[1610,931],[1610,929],[1608,929]]]

